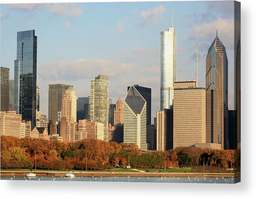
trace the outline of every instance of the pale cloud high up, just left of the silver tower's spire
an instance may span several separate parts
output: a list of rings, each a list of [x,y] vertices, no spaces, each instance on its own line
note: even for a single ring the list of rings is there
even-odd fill
[[[147,26],[153,21],[162,20],[161,15],[166,12],[166,8],[163,5],[154,7],[153,10],[142,11],[142,20],[137,23],[137,25]]]

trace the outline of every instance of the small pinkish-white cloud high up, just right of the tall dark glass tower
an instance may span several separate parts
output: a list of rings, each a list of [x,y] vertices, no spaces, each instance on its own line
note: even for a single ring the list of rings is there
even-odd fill
[[[77,6],[75,3],[56,3],[53,4],[50,10],[54,15],[63,15],[70,18],[77,18],[83,12],[81,7]]]

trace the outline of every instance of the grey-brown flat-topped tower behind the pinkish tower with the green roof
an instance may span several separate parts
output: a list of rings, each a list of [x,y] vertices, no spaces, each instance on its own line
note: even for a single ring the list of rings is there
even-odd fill
[[[49,120],[58,121],[58,112],[62,109],[63,94],[72,85],[49,84],[48,114]],[[60,119],[60,118],[59,118]]]

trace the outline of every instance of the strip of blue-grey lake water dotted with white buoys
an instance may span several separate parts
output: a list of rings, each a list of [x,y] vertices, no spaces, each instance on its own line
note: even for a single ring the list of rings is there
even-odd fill
[[[221,183],[233,184],[240,181],[240,176],[232,177],[59,177],[38,175],[37,177],[4,176],[1,180],[29,180],[29,181],[103,181],[103,182],[147,182],[147,183]]]

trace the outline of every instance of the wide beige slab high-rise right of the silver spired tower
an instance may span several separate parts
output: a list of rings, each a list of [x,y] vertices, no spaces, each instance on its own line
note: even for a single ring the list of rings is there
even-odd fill
[[[174,87],[173,148],[206,142],[206,91],[194,85],[188,81]]]

